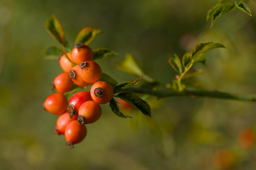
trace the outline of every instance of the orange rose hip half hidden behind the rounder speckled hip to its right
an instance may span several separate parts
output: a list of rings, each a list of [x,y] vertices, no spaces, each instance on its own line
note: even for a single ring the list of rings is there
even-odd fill
[[[69,78],[78,86],[86,87],[89,86],[90,83],[86,83],[83,81],[82,77],[82,70],[80,69],[79,65],[76,65],[72,68],[72,70],[69,71]]]

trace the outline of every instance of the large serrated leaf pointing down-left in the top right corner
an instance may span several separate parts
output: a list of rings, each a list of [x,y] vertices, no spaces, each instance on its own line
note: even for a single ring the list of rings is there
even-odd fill
[[[212,20],[211,20],[211,27],[212,25],[224,14],[226,14],[228,11],[234,9],[236,7],[235,3],[233,2],[227,2],[221,4],[213,13],[212,13]]]

